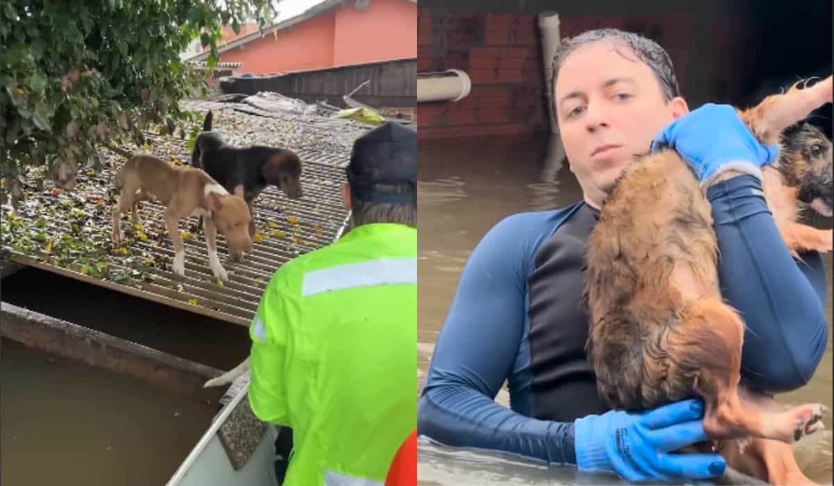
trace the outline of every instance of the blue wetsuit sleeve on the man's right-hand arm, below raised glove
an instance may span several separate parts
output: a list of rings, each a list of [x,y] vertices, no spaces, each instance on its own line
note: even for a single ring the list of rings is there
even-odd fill
[[[819,253],[791,257],[782,242],[761,182],[747,175],[707,193],[721,255],[722,296],[747,329],[742,374],[764,392],[781,393],[811,379],[827,340],[827,278]]]

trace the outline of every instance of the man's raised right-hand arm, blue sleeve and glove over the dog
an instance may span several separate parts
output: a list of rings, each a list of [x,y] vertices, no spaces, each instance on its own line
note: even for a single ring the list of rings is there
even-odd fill
[[[676,148],[707,187],[721,294],[747,326],[743,376],[770,393],[807,383],[826,347],[825,269],[817,253],[794,261],[767,207],[761,166],[776,147],[759,143],[734,108],[711,103],[676,119],[655,143]]]

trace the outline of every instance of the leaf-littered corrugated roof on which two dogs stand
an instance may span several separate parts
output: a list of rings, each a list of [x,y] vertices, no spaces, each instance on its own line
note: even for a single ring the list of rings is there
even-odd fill
[[[13,261],[67,275],[139,298],[165,303],[231,323],[248,325],[261,293],[274,270],[297,254],[320,248],[343,231],[348,211],[341,200],[344,166],[354,138],[368,127],[346,120],[301,119],[289,113],[254,116],[235,109],[234,103],[197,103],[192,108],[214,107],[214,128],[231,143],[269,143],[294,149],[304,160],[304,198],[292,200],[269,188],[255,205],[259,234],[254,251],[242,263],[225,261],[225,238],[219,235],[221,262],[229,282],[219,284],[208,267],[202,232],[190,234],[196,218],[182,220],[186,246],[185,277],[171,272],[173,249],[157,203],[141,205],[141,228],[131,228],[127,216],[123,230],[132,236],[123,249],[110,243],[110,211],[115,199],[112,174],[124,163],[113,153],[100,153],[113,168],[98,175],[79,175],[73,192],[42,192],[27,183],[28,198],[13,217],[3,211],[3,253]],[[243,107],[241,107],[243,108]],[[243,108],[245,109],[245,108]],[[204,113],[204,112],[203,112]],[[189,160],[185,140],[158,137],[143,152],[173,163]],[[138,152],[138,148],[126,147]]]

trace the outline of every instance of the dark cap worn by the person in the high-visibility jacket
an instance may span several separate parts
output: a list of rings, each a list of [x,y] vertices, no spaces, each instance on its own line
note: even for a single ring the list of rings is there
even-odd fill
[[[350,192],[369,203],[417,205],[417,132],[386,122],[354,142]]]

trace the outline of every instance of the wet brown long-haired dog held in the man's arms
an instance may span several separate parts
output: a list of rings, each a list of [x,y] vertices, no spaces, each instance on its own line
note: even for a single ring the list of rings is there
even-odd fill
[[[812,130],[794,133],[795,138],[788,132],[781,139],[781,133],[830,102],[827,78],[740,111],[761,142],[786,143],[781,160],[763,169],[763,188],[795,254],[831,251],[831,230],[796,221],[801,198],[810,197],[814,207],[830,207],[830,193],[820,190],[814,197],[807,190],[803,194],[802,187],[826,185],[831,152],[821,139],[825,148],[819,152],[827,151],[827,159],[813,155],[817,148],[807,145],[816,137]],[[805,148],[811,158],[803,155]],[[810,482],[796,466],[791,443],[823,428],[826,409],[806,404],[784,410],[740,383],[745,324],[721,299],[717,258],[710,205],[676,152],[649,154],[625,169],[590,235],[586,261],[591,318],[586,350],[600,397],[627,410],[701,397],[704,429],[729,466],[773,483]],[[739,447],[727,448],[727,441]],[[741,456],[761,459],[765,467],[748,467]]]

